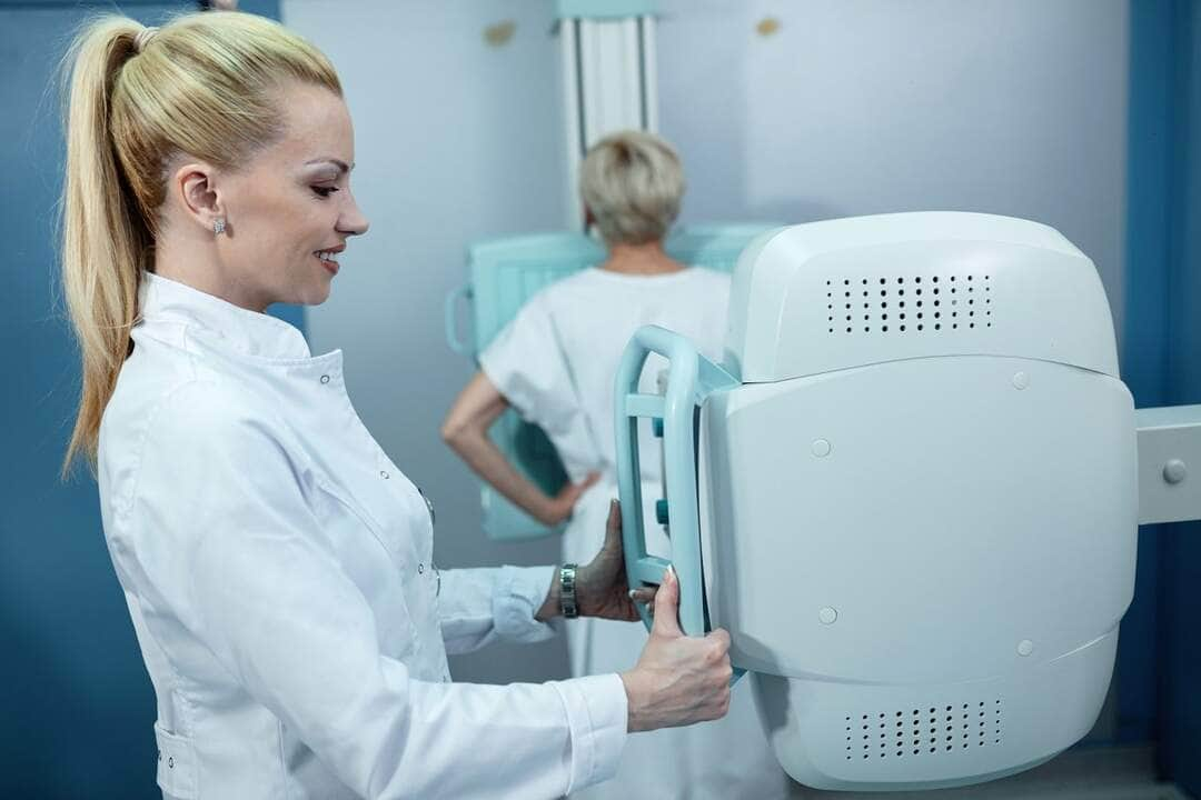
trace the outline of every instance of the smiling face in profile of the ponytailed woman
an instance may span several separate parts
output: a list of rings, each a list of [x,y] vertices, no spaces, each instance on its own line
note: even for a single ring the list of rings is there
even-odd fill
[[[346,103],[311,84],[281,95],[282,138],[220,181],[227,227],[219,257],[234,302],[256,311],[324,302],[347,239],[368,229],[351,194],[354,128]]]

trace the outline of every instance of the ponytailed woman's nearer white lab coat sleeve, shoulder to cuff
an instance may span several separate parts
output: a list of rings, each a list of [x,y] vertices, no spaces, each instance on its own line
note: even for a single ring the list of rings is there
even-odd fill
[[[617,675],[435,684],[381,654],[315,512],[333,500],[269,414],[198,383],[157,413],[124,509],[142,533],[112,543],[151,610],[178,616],[365,798],[552,798],[611,776]]]

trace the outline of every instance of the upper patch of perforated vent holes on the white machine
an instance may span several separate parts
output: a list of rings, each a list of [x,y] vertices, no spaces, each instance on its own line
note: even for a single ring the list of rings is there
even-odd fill
[[[831,278],[829,333],[925,333],[992,327],[992,276]]]

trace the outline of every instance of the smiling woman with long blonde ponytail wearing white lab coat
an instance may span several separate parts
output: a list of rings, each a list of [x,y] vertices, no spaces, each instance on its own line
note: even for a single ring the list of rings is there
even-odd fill
[[[324,301],[368,229],[324,55],[207,13],[102,19],[68,64],[67,459],[95,458],[166,798],[552,798],[613,775],[629,732],[725,712],[729,639],[680,633],[670,576],[620,674],[450,681],[448,651],[550,634],[558,572],[435,569],[431,510],[341,353],[263,313]],[[631,619],[616,519],[578,607]]]

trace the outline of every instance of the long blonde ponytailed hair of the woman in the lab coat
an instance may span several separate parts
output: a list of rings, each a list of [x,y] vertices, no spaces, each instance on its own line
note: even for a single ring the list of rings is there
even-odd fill
[[[64,471],[95,463],[100,421],[131,348],[138,287],[154,264],[167,170],[179,155],[235,169],[280,138],[281,89],[342,88],[329,60],[246,13],[180,16],[161,29],[101,17],[64,58],[67,163],[62,285],[83,391]]]

